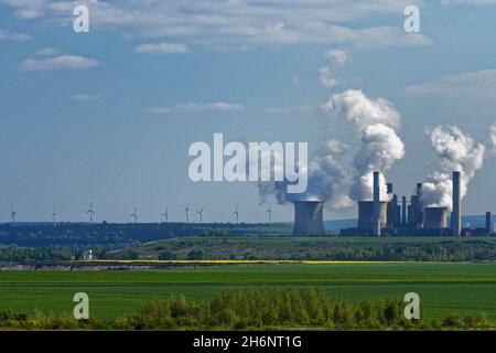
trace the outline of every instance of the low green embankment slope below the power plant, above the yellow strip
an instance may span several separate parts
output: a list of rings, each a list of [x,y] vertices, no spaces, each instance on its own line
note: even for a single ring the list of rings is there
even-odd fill
[[[496,258],[496,237],[470,239],[343,237],[174,238],[112,252],[115,259],[273,259],[474,261]]]

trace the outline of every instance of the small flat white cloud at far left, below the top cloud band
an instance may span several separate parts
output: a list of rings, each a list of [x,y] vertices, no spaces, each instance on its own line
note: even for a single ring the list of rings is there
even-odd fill
[[[21,63],[24,71],[84,69],[98,66],[98,61],[78,55],[60,55],[47,58],[26,58]]]

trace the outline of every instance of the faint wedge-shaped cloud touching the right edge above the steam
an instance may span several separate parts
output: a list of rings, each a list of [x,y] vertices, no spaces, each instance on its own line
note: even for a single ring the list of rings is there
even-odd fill
[[[405,93],[414,96],[496,99],[496,69],[446,75],[435,82],[408,86]]]

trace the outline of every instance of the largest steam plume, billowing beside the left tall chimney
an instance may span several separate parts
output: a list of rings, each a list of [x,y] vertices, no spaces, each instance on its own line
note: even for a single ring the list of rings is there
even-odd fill
[[[338,210],[354,205],[354,201],[373,199],[373,172],[380,171],[381,200],[387,201],[384,172],[403,158],[405,145],[397,135],[401,116],[386,99],[368,98],[362,90],[336,94],[321,105],[330,117],[344,118],[356,132],[358,148],[352,165],[345,165],[343,154],[352,147],[330,139],[309,162],[309,186],[302,194],[285,194],[285,183],[259,183],[262,202],[273,195],[279,203],[295,200],[326,201],[327,207]],[[328,124],[335,120],[327,119]]]

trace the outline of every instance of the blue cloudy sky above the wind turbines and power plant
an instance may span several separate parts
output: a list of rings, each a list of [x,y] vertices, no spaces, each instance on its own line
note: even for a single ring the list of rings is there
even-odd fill
[[[89,9],[89,33],[73,10]],[[420,9],[421,33],[403,31]],[[425,131],[454,125],[486,143],[465,214],[496,211],[496,0],[0,0],[0,220],[265,220],[249,183],[193,183],[188,146],[356,136],[319,107],[362,89],[401,115],[405,157],[387,171],[399,194],[439,168]],[[273,218],[292,210],[274,205]],[[352,217],[354,206],[326,211]]]

